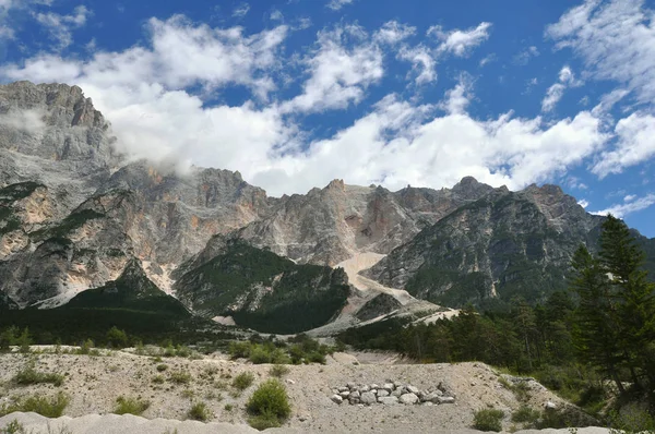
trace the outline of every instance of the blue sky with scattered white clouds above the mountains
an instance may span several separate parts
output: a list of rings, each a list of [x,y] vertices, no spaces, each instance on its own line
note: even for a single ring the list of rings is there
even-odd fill
[[[655,4],[0,0],[0,82],[81,86],[117,146],[269,194],[555,183],[655,237]]]

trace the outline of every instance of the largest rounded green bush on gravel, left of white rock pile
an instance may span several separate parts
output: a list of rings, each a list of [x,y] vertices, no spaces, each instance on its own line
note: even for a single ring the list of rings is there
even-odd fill
[[[286,389],[278,379],[267,379],[252,394],[246,409],[251,414],[249,423],[258,430],[279,426],[291,414]]]

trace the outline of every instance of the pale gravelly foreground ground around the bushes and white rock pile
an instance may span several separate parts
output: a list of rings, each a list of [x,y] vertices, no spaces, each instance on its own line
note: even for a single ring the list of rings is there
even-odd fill
[[[17,385],[13,378],[29,360],[35,360],[38,371],[64,375],[63,384],[61,386]],[[510,431],[522,427],[520,424],[512,423],[510,415],[523,405],[535,409],[543,409],[547,402],[557,407],[565,405],[563,400],[535,381],[503,376],[483,363],[398,364],[398,362],[402,363],[402,360],[393,357],[335,353],[329,358],[325,365],[289,366],[289,373],[284,376],[284,382],[291,399],[293,415],[284,427],[291,432],[460,431],[472,426],[475,411],[496,408],[505,412],[503,429]],[[166,365],[166,369],[162,365]],[[2,354],[0,355],[0,407],[15,396],[55,395],[62,390],[71,397],[71,402],[64,411],[64,414],[71,418],[109,414],[116,408],[116,399],[124,396],[148,400],[151,406],[142,415],[150,420],[157,418],[186,420],[192,403],[204,401],[212,413],[211,422],[242,425],[247,423],[248,418],[245,403],[258,384],[270,377],[270,369],[271,365],[266,364],[253,365],[248,362],[230,361],[222,353],[195,360],[164,358],[162,361],[129,351],[108,352],[99,357],[64,353]],[[255,379],[246,390],[238,391],[231,386],[231,381],[243,372],[252,373]],[[189,374],[188,383],[175,383],[171,378],[176,373]],[[441,405],[424,402],[370,406],[350,405],[347,399],[341,405],[333,401],[335,391],[348,383],[383,385],[390,381],[402,386],[410,385],[420,391],[436,390],[441,384],[442,388],[448,388],[446,395],[454,396],[455,400],[452,403]],[[516,395],[507,387],[508,381],[522,382],[526,385],[525,400],[519,400]],[[97,423],[97,418],[94,418],[87,417],[84,422],[86,425],[79,423],[84,426],[93,421]],[[117,417],[102,420],[114,420],[111,418]],[[139,421],[126,417],[120,420],[123,424]],[[0,426],[9,421],[10,417],[0,419]],[[159,427],[166,425],[165,422],[157,423],[156,426]],[[178,424],[179,422],[170,422],[166,426],[178,427]],[[165,432],[166,426],[158,432]],[[186,426],[192,431],[186,431]],[[190,422],[187,425],[179,425],[178,429],[182,430],[179,432],[204,432],[198,431],[201,430],[201,425]],[[235,432],[249,432],[247,426],[240,426],[239,430],[242,431]]]

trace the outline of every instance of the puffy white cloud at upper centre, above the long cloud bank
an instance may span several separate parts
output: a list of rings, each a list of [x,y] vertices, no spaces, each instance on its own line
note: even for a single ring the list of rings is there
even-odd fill
[[[303,92],[282,105],[285,112],[321,111],[357,104],[383,74],[382,50],[361,27],[347,25],[318,34],[317,48],[303,63],[310,77]]]

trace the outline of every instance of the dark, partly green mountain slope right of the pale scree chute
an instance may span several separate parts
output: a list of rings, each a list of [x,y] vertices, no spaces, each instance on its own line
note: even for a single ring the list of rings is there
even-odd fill
[[[565,288],[575,249],[596,248],[602,221],[555,185],[497,189],[392,251],[367,276],[448,305],[536,301]]]

